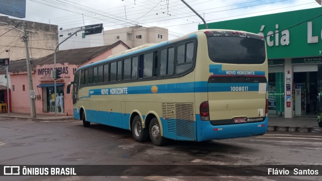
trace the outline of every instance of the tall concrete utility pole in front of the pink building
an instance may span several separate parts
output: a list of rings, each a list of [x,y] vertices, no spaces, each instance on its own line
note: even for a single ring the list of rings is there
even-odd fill
[[[24,42],[26,48],[26,62],[27,62],[27,73],[28,73],[28,83],[29,83],[29,99],[30,99],[30,114],[31,118],[36,118],[36,104],[35,104],[35,90],[32,82],[32,74],[31,74],[31,64],[29,59],[29,47],[28,47],[28,35],[26,30],[26,22],[24,22]],[[32,96],[33,95],[33,96]]]

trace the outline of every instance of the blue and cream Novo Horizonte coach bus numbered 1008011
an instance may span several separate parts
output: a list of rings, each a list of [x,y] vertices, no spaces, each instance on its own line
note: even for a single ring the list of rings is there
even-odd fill
[[[265,134],[267,84],[264,37],[199,30],[80,67],[67,89],[84,127],[123,128],[163,145]]]

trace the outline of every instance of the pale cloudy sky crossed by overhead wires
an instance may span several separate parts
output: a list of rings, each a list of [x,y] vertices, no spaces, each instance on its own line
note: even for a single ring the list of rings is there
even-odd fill
[[[315,0],[185,1],[207,23],[321,7]],[[104,30],[158,26],[169,30],[169,40],[196,31],[202,24],[180,0],[27,0],[22,19],[58,25],[58,29],[100,23]]]

